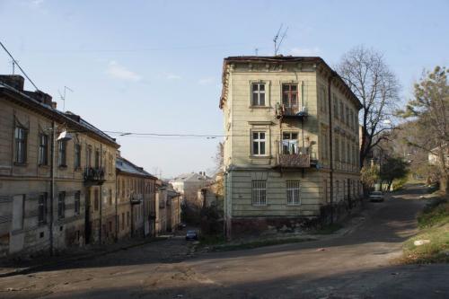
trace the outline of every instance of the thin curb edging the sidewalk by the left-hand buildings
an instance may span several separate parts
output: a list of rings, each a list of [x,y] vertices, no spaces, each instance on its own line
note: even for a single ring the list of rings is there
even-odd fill
[[[138,242],[138,243],[135,243],[135,244],[129,244],[128,246],[120,246],[119,248],[116,248],[116,249],[113,249],[113,250],[110,250],[110,251],[93,252],[93,253],[90,253],[90,254],[84,254],[84,255],[70,257],[70,258],[61,259],[61,260],[57,260],[57,261],[50,261],[48,263],[43,263],[43,264],[40,264],[40,265],[35,265],[35,266],[27,267],[27,268],[16,268],[16,269],[13,269],[13,270],[8,271],[8,272],[0,273],[0,278],[2,278],[2,277],[13,277],[13,276],[16,276],[16,275],[23,275],[23,274],[29,274],[31,272],[35,272],[35,271],[38,271],[38,270],[41,270],[41,269],[44,269],[44,268],[54,267],[54,266],[58,266],[58,265],[61,265],[61,264],[66,264],[66,263],[71,263],[71,262],[78,261],[78,260],[92,259],[92,258],[100,257],[100,256],[105,255],[105,254],[115,253],[115,252],[118,252],[118,251],[126,251],[128,249],[139,247],[139,246],[145,245],[147,243],[160,242],[160,241],[164,241],[164,240],[169,240],[171,238],[172,238],[172,236],[156,237],[155,239],[147,240],[147,241],[144,241],[144,242]]]

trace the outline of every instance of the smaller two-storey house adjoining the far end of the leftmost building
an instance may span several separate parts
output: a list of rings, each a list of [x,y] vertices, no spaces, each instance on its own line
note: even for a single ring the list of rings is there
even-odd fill
[[[117,235],[119,239],[156,235],[156,178],[142,167],[118,156]]]

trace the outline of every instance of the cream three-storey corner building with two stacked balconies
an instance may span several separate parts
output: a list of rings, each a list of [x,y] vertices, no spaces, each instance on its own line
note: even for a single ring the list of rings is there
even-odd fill
[[[361,103],[320,57],[227,57],[225,231],[298,229],[361,194]]]

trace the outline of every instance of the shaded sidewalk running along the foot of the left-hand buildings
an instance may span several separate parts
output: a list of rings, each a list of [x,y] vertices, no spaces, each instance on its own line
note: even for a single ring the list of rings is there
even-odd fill
[[[0,277],[27,274],[51,266],[72,262],[80,259],[92,259],[108,253],[127,250],[129,248],[144,245],[149,242],[158,242],[172,238],[172,234],[161,235],[153,238],[136,238],[123,240],[117,243],[105,245],[87,245],[84,248],[70,248],[57,253],[53,257],[48,255],[33,259],[0,259]]]

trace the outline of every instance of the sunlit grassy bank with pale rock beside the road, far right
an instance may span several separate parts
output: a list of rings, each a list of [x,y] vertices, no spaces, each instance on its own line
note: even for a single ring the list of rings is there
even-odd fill
[[[449,262],[449,202],[437,198],[418,215],[419,233],[403,245],[403,262]],[[415,241],[430,242],[416,246]]]

